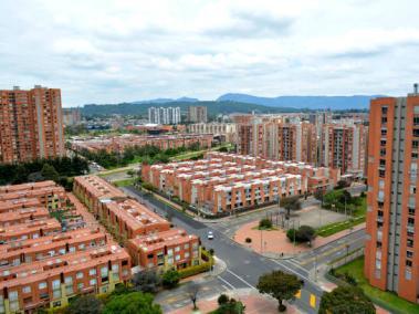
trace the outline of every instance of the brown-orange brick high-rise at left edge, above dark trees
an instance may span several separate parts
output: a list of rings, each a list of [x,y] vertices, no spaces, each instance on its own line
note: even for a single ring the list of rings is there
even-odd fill
[[[0,91],[0,163],[64,156],[61,91]]]

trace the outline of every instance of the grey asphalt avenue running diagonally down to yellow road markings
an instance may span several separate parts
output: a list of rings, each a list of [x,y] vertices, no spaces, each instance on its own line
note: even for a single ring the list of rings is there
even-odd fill
[[[172,223],[177,227],[186,229],[190,233],[195,233],[201,238],[202,245],[213,248],[216,255],[223,260],[227,264],[227,271],[218,276],[218,280],[230,289],[252,287],[255,289],[260,275],[271,272],[272,270],[282,270],[289,273],[295,273],[304,280],[304,289],[301,297],[295,301],[295,304],[304,313],[316,313],[320,305],[320,299],[323,294],[322,289],[308,278],[308,272],[296,263],[289,261],[273,261],[261,257],[260,254],[250,251],[232,241],[222,232],[209,226],[196,221],[192,218],[179,212],[166,203],[155,199],[153,196],[145,196],[133,187],[124,188],[124,190],[139,201],[145,202],[149,208],[157,213],[172,216]],[[208,240],[208,231],[214,234],[213,240]],[[311,300],[314,307],[311,306]],[[313,302],[314,301],[314,302]],[[315,304],[314,304],[315,303]]]

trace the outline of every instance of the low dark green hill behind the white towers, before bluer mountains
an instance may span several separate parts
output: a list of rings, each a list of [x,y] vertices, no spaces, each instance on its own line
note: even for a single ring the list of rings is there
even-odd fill
[[[232,113],[255,113],[268,114],[268,113],[286,113],[286,112],[296,112],[295,108],[286,107],[269,107],[258,104],[249,103],[239,103],[230,101],[220,101],[220,102],[202,102],[195,101],[193,105],[207,106],[209,116],[217,116],[218,114],[232,114]],[[159,102],[158,106],[170,107],[176,106],[180,107],[180,111],[186,113],[188,107],[191,105],[189,101],[170,101],[170,102]],[[133,102],[133,103],[121,103],[121,104],[88,104],[84,105],[82,108],[82,114],[85,116],[105,116],[112,114],[122,114],[122,115],[142,115],[147,116],[148,108],[156,106],[156,102]]]

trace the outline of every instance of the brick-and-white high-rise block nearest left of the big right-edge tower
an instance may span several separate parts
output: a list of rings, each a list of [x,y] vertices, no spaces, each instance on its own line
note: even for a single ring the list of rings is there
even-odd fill
[[[320,138],[320,164],[342,174],[364,176],[368,127],[363,124],[325,124]]]

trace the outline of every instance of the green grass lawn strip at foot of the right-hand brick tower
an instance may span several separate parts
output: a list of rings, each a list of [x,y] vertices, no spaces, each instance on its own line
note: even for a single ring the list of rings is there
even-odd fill
[[[383,303],[387,304],[388,310],[391,310],[391,312],[419,314],[419,305],[398,297],[391,292],[381,291],[368,284],[364,276],[364,257],[336,269],[336,273],[344,274],[345,272],[348,272],[356,279],[358,286],[364,290],[366,295],[368,295],[373,301],[374,299],[380,300]]]

